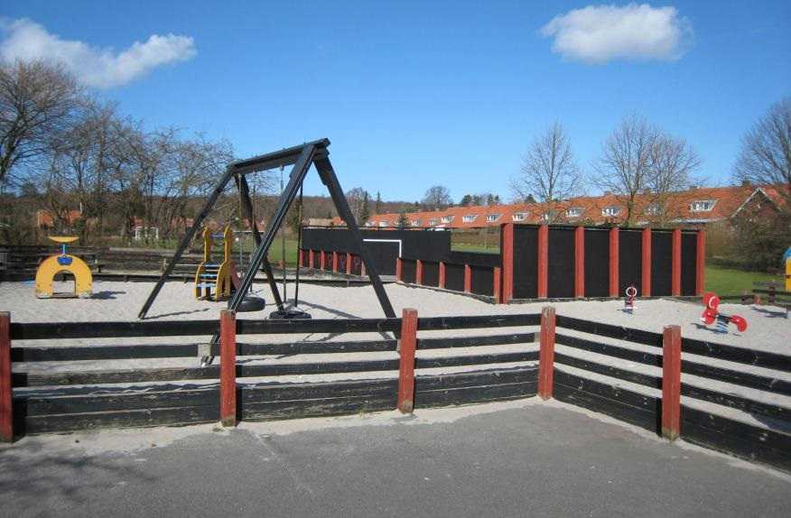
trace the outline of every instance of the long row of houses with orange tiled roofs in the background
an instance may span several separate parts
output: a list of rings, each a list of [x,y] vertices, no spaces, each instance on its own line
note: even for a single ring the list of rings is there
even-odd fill
[[[770,217],[783,204],[779,190],[771,186],[696,188],[672,193],[661,202],[654,195],[637,195],[632,208],[632,225],[701,226],[731,219],[737,215]],[[624,199],[605,194],[566,199],[553,204],[517,203],[472,207],[451,207],[437,211],[377,214],[366,227],[479,228],[503,223],[560,223],[619,225],[628,218]],[[341,225],[340,218],[332,225]]]

